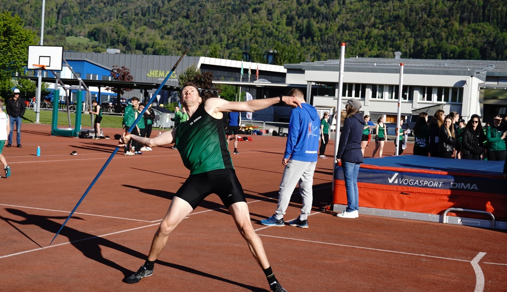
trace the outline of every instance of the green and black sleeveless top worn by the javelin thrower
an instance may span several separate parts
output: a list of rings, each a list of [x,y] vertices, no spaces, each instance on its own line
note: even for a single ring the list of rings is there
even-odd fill
[[[176,128],[176,148],[191,175],[213,170],[234,169],[222,119],[204,109],[204,103]]]

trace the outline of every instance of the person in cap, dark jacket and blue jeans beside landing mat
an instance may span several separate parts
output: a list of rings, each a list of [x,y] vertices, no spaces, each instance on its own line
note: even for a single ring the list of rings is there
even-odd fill
[[[336,161],[342,162],[345,190],[347,192],[347,208],[336,216],[341,218],[359,217],[359,192],[357,190],[357,175],[359,166],[363,163],[361,152],[361,138],[365,129],[365,119],[359,113],[361,103],[351,98],[346,103],[346,116],[340,135],[340,144],[336,154]]]

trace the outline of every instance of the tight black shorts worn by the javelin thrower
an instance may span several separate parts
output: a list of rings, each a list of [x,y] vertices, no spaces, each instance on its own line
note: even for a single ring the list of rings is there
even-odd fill
[[[246,202],[243,187],[234,169],[190,175],[175,196],[186,200],[195,210],[212,193],[220,197],[226,208],[237,202]]]

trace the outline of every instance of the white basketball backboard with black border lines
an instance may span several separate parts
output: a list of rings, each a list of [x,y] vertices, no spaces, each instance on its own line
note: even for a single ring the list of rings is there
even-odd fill
[[[28,69],[40,69],[45,65],[46,70],[61,71],[63,60],[63,47],[28,46]]]

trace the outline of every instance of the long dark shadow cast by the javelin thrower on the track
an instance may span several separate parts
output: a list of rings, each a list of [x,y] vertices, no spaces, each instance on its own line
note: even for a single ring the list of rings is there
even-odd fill
[[[39,226],[40,228],[42,228],[50,233],[54,233],[54,234],[56,234],[58,229],[60,229],[61,224],[58,222],[54,222],[50,219],[55,219],[55,220],[66,219],[66,217],[63,217],[63,216],[46,217],[46,216],[40,216],[40,215],[32,215],[32,214],[28,214],[24,211],[17,210],[14,208],[6,208],[6,211],[15,215],[15,216],[24,218],[24,220],[14,220],[14,219],[5,218],[5,217],[0,216],[0,219],[4,220],[5,222],[7,222],[11,226],[13,226],[12,223],[19,224],[19,225],[35,225],[35,226]],[[79,217],[73,217],[73,219],[83,220]],[[13,227],[16,228],[15,226],[13,226]],[[21,232],[24,236],[29,238],[29,236],[26,235],[25,233],[23,233],[21,230],[19,230],[18,228],[16,228],[16,229],[19,232]],[[131,270],[124,268],[109,259],[104,258],[101,253],[101,246],[116,249],[119,252],[136,257],[142,261],[146,260],[146,255],[143,255],[137,251],[134,251],[131,248],[120,245],[120,244],[113,242],[111,240],[107,240],[103,237],[97,237],[92,234],[81,232],[81,231],[76,230],[74,228],[69,228],[69,227],[65,226],[61,230],[60,235],[66,236],[68,238],[70,244],[72,244],[74,247],[76,247],[88,259],[97,261],[101,264],[104,264],[106,266],[117,269],[118,271],[123,273],[124,277],[131,275],[135,271],[131,271]],[[29,238],[29,239],[31,241],[33,241],[31,238]],[[35,241],[33,241],[33,242],[35,244],[39,245],[37,242],[35,242]],[[39,246],[41,246],[41,245],[39,245]],[[199,271],[199,270],[192,269],[192,268],[185,267],[185,266],[178,265],[178,264],[167,263],[164,261],[157,261],[157,264],[164,265],[166,267],[170,267],[170,268],[174,268],[174,269],[178,269],[180,271],[193,273],[198,276],[223,281],[223,282],[237,285],[239,287],[243,287],[243,288],[249,289],[251,291],[255,291],[255,292],[267,291],[266,289],[238,283],[238,282],[226,279],[226,278],[222,278],[222,277],[219,277],[216,275],[212,275],[212,274],[209,274],[209,273],[206,273],[203,271]]]

